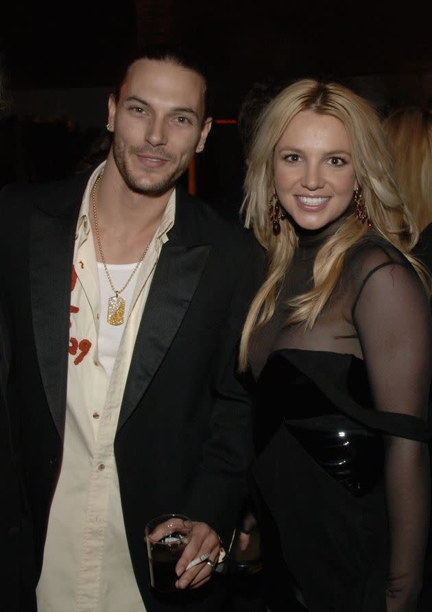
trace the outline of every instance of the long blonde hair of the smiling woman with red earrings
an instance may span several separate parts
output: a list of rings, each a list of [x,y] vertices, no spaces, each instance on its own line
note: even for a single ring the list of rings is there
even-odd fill
[[[252,301],[243,327],[241,370],[248,363],[250,334],[274,314],[278,290],[298,244],[289,219],[280,224],[280,234],[274,235],[268,203],[274,193],[274,149],[291,119],[302,110],[332,115],[344,123],[352,147],[355,175],[363,190],[365,208],[374,231],[405,253],[427,284],[424,268],[409,255],[418,240],[418,229],[392,176],[392,158],[381,117],[369,102],[341,84],[298,80],[283,89],[266,107],[250,150],[241,213],[245,215],[245,226],[253,228],[256,238],[267,250],[267,275]],[[313,266],[314,287],[290,302],[293,308],[289,323],[313,327],[341,275],[346,252],[367,231],[368,224],[362,224],[353,209],[353,214],[346,218],[337,234],[326,240],[317,253]]]

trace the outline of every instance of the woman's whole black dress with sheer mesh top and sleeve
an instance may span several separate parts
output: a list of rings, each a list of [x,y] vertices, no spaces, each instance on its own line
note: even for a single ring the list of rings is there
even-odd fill
[[[251,340],[252,477],[272,612],[304,609],[295,592],[311,612],[382,612],[387,578],[409,585],[422,570],[427,460],[414,476],[400,465],[407,438],[428,437],[429,301],[405,257],[371,231],[314,327],[284,327],[329,231],[300,237],[275,314]]]

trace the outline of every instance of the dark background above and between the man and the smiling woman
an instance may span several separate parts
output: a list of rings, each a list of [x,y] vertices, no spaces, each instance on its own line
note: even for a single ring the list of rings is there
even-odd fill
[[[124,56],[141,42],[199,50],[215,119],[236,119],[256,81],[303,76],[346,82],[387,113],[432,99],[431,17],[420,2],[3,0],[0,58],[10,104],[0,123],[0,185],[76,171],[104,133]],[[215,123],[197,158],[198,194],[230,210],[242,178],[237,126]]]

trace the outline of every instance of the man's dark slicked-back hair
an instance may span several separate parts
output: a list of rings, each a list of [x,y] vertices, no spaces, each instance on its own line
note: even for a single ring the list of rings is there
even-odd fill
[[[210,115],[211,96],[208,90],[208,75],[206,67],[200,61],[192,47],[176,43],[160,43],[141,47],[133,56],[129,56],[121,64],[115,83],[115,99],[119,99],[120,89],[125,82],[132,64],[138,60],[157,60],[171,62],[176,66],[193,70],[204,80],[204,118]]]

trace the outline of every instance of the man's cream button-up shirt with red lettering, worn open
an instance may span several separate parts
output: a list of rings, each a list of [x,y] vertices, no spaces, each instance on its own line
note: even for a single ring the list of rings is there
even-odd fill
[[[99,318],[106,316],[106,305],[99,303],[90,224],[91,190],[103,170],[104,163],[88,181],[75,235],[64,455],[37,587],[39,612],[145,612],[126,541],[114,438],[136,333],[160,250],[173,226],[176,198],[174,191],[135,274],[132,303],[108,378],[99,362]]]

